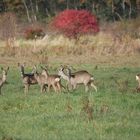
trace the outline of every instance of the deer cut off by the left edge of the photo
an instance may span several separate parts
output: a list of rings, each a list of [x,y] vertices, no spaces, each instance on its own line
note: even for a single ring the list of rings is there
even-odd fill
[[[2,77],[0,78],[0,95],[1,95],[1,88],[6,83],[7,73],[8,73],[9,67],[7,67],[7,69],[1,68],[1,70],[2,70]]]

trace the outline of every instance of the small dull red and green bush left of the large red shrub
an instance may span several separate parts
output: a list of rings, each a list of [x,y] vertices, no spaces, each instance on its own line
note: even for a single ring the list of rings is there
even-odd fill
[[[41,28],[27,28],[24,32],[26,39],[35,39],[36,37],[42,38],[45,35]]]

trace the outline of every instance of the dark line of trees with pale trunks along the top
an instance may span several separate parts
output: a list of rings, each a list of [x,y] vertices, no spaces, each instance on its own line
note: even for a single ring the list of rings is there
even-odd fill
[[[1,0],[0,13],[12,12],[19,19],[49,21],[65,9],[85,9],[103,21],[140,16],[140,0]]]

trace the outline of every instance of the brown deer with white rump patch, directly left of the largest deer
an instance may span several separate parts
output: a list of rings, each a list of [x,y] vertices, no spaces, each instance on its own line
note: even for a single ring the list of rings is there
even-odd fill
[[[46,77],[46,84],[48,85],[48,92],[50,91],[50,87],[52,86],[54,91],[56,92],[61,91],[61,87],[63,87],[61,85],[61,79],[59,75],[53,74],[50,75],[47,71],[47,68],[42,68],[42,75],[44,75]]]

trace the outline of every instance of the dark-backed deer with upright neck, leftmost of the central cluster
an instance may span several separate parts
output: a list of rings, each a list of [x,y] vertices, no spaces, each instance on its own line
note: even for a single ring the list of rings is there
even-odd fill
[[[30,85],[37,84],[37,80],[35,79],[34,73],[24,73],[25,64],[18,63],[18,66],[20,68],[22,82],[24,85],[24,93],[27,94]]]

